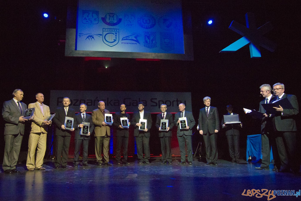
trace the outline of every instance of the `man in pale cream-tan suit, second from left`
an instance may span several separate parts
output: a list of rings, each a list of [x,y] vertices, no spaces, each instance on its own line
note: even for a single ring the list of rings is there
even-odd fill
[[[37,93],[36,99],[37,102],[30,103],[28,105],[28,108],[35,108],[28,140],[28,154],[26,160],[26,167],[28,171],[34,171],[34,169],[45,170],[42,165],[46,151],[47,126],[51,125],[51,121],[45,120],[48,116],[50,116],[50,109],[47,105],[43,104],[44,95],[42,93]],[[37,147],[38,150],[35,162],[35,152]]]

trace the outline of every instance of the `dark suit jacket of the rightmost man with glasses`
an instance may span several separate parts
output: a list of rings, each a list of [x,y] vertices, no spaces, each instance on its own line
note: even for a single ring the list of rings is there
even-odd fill
[[[283,109],[283,114],[278,112],[272,119],[274,129],[282,132],[297,131],[296,115],[299,113],[299,105],[295,95],[284,94],[281,99],[287,97],[293,109]],[[276,99],[275,99],[276,100]]]

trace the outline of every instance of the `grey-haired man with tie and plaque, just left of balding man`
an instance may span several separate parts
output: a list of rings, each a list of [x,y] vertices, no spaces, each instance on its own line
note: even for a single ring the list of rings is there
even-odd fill
[[[166,164],[168,162],[169,165],[172,164],[172,156],[171,156],[171,137],[172,137],[172,132],[171,129],[174,126],[172,114],[169,112],[166,112],[167,110],[167,105],[162,104],[160,106],[160,109],[162,113],[157,115],[157,120],[156,120],[156,127],[159,130],[159,138],[160,138],[160,143],[161,143],[161,151],[162,151],[162,163],[161,164]],[[168,120],[168,127],[166,130],[161,130],[161,119]]]

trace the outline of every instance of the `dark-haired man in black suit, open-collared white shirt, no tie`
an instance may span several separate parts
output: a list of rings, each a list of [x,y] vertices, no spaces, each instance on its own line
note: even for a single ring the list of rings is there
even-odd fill
[[[144,111],[144,103],[138,102],[138,112],[134,112],[132,117],[131,124],[134,126],[134,136],[137,145],[137,156],[139,160],[139,164],[150,164],[149,159],[151,158],[150,153],[150,130],[152,125],[151,113],[148,111]],[[139,126],[142,124],[139,123],[140,119],[147,120],[145,130],[139,130]],[[144,159],[143,159],[143,149],[144,149]]]

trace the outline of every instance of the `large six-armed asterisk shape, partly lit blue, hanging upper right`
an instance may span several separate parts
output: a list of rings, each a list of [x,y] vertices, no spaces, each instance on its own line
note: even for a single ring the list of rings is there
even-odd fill
[[[267,22],[263,26],[256,29],[255,14],[247,13],[245,16],[247,27],[235,22],[234,20],[231,22],[229,27],[229,29],[235,31],[236,33],[239,33],[241,36],[244,37],[233,42],[231,45],[229,45],[225,49],[222,49],[220,52],[235,52],[236,50],[242,48],[243,46],[249,43],[251,58],[261,57],[259,46],[262,46],[263,48],[274,52],[276,49],[276,43],[263,37],[265,33],[273,29],[272,24],[270,22]]]

